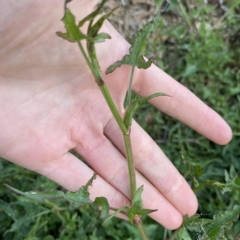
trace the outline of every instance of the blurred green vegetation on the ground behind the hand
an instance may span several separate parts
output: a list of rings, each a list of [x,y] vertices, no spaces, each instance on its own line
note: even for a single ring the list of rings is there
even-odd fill
[[[145,7],[142,2],[139,6]],[[156,0],[156,5],[162,2]],[[189,180],[199,200],[198,213],[211,219],[240,203],[240,191],[228,192],[209,181],[226,183],[225,171],[231,177],[240,172],[240,0],[171,1],[155,27],[148,51],[160,68],[222,115],[232,128],[232,141],[218,146],[148,104],[135,117]],[[76,210],[59,200],[38,204],[14,195],[3,183],[22,191],[61,189],[0,159],[1,239],[139,239],[125,221],[114,219],[102,226],[97,213],[88,207]],[[171,235],[153,220],[146,222],[150,239]],[[226,239],[240,239],[239,220],[227,230]]]

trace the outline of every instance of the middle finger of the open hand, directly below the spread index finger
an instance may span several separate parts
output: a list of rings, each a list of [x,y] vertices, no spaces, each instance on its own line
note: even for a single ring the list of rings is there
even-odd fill
[[[117,140],[121,138],[121,133],[114,121],[109,122],[105,127],[105,134],[121,152],[125,152],[123,143]],[[137,170],[141,172],[182,215],[193,215],[198,206],[196,196],[157,144],[136,122],[133,122],[131,128],[131,140]],[[149,184],[147,187],[149,187]],[[145,187],[145,189],[147,189],[147,187]],[[143,194],[144,198],[147,199],[149,194],[145,195],[145,192]],[[158,213],[155,213],[153,215],[155,216],[157,214]]]

